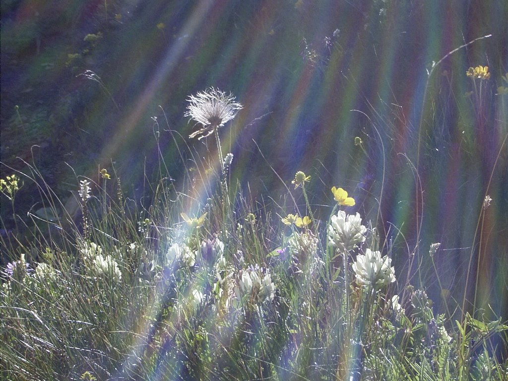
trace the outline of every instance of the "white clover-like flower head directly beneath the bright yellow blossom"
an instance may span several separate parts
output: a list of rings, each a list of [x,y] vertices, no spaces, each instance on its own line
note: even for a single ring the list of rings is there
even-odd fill
[[[339,210],[332,216],[330,226],[328,227],[328,240],[334,247],[342,251],[352,250],[365,241],[367,228],[362,225],[360,213],[346,215],[343,210]]]

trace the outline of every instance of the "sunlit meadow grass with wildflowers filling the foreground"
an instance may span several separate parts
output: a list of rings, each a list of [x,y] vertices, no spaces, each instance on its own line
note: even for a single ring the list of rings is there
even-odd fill
[[[208,112],[231,119],[224,107],[234,98],[212,90],[201,94],[218,99]],[[356,201],[341,184],[328,184],[326,221],[309,202],[316,179],[301,171],[283,179],[283,203],[252,200],[231,183],[224,120],[200,118],[201,133],[216,137],[207,156],[193,154],[177,182],[161,155],[142,202],[102,168],[95,181],[76,178],[77,212],[34,164],[3,180],[15,221],[22,182],[37,184],[44,212],[28,214],[29,243],[2,236],[11,259],[0,290],[2,378],[506,379],[508,363],[495,356],[508,339],[503,317],[483,319],[465,297],[435,311],[392,266],[380,221],[346,213]]]

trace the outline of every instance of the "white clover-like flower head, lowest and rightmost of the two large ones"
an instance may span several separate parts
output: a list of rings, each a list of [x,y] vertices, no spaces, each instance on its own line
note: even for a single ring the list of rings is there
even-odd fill
[[[380,251],[366,249],[365,254],[358,255],[353,263],[356,280],[365,287],[374,287],[379,290],[388,283],[395,281],[395,269],[390,267],[392,259],[381,257]]]

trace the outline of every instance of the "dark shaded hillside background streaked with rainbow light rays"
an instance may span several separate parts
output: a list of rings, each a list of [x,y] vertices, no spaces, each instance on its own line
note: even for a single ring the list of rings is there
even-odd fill
[[[191,153],[206,155],[206,142],[186,138],[186,98],[215,86],[244,105],[222,137],[234,154],[232,182],[248,196],[282,202],[280,179],[290,184],[302,170],[312,176],[317,218],[328,218],[334,185],[367,219],[380,203],[395,265],[417,242],[425,264],[430,243],[441,242],[439,275],[458,299],[470,253],[481,249],[483,307],[506,317],[508,96],[496,95],[508,72],[506,2],[5,0],[1,13],[2,178],[35,163],[65,202],[76,175],[98,178],[107,168],[139,201],[159,176],[160,150],[178,188]],[[487,35],[429,79],[433,62]],[[465,95],[466,70],[478,65],[492,73],[481,121]],[[479,248],[486,194],[493,201]],[[19,218],[39,202],[25,182]],[[3,196],[1,212],[8,237]],[[414,282],[439,306],[430,267]]]

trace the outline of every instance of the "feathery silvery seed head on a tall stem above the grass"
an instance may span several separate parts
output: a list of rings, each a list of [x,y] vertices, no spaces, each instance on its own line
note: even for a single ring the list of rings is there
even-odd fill
[[[189,138],[198,138],[201,140],[211,135],[216,129],[223,126],[226,122],[233,119],[237,110],[243,106],[234,102],[235,97],[213,87],[203,92],[198,92],[196,96],[188,98],[189,105],[184,116],[189,116],[203,125],[203,128],[189,135]],[[206,134],[206,135],[205,135]]]

